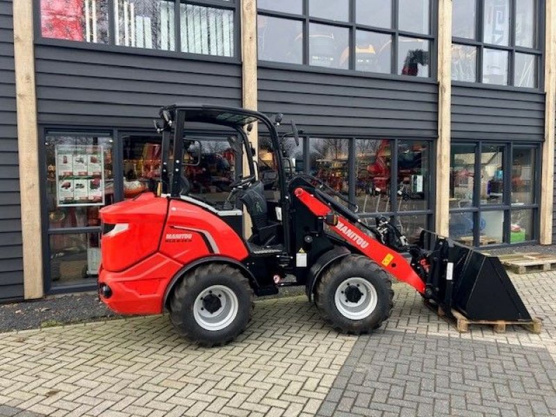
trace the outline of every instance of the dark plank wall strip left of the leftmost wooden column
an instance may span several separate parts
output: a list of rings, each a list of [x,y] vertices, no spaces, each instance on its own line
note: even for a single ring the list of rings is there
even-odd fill
[[[0,300],[23,297],[12,6],[0,0]]]

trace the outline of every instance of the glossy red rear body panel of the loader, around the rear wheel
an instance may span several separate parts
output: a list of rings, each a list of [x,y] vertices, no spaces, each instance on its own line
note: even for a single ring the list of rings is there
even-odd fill
[[[249,252],[229,225],[195,204],[151,193],[101,209],[117,226],[101,240],[101,300],[122,314],[163,311],[168,285],[184,265],[206,256],[242,261]],[[119,227],[119,225],[124,225]]]

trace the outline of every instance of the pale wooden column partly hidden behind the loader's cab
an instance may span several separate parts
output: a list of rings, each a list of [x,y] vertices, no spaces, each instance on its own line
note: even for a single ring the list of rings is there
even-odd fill
[[[257,109],[257,74],[256,74],[256,0],[241,0],[241,61],[243,65],[243,107],[250,110]],[[249,138],[251,143],[259,152],[259,137],[257,126],[253,126]],[[247,158],[243,159],[243,172],[249,172]],[[245,212],[243,216],[243,229],[245,236],[250,236],[252,222],[250,216]]]

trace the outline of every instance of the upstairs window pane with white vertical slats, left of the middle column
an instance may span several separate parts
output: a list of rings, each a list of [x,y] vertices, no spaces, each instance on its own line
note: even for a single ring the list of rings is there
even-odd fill
[[[234,56],[234,11],[180,4],[181,50]]]

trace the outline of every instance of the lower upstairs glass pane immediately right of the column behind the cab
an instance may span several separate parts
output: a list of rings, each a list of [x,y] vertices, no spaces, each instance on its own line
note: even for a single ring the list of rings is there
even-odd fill
[[[303,63],[303,24],[298,20],[259,15],[259,59],[279,63]]]

